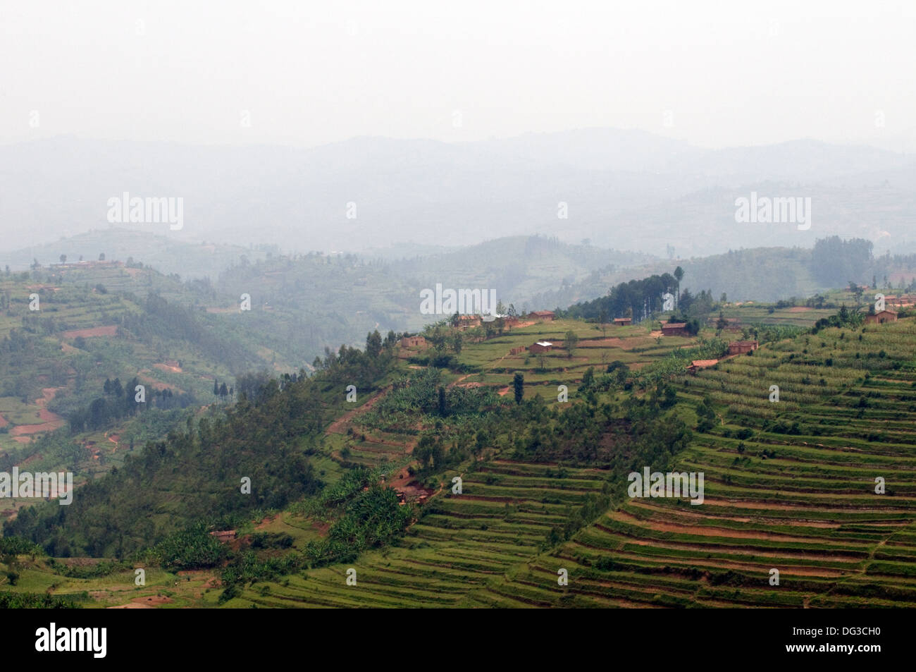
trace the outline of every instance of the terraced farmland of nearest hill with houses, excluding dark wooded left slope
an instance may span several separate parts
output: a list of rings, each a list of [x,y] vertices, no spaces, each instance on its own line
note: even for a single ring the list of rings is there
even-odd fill
[[[914,322],[822,328],[696,375],[685,363],[722,347],[711,330],[605,335],[558,320],[481,342],[467,330],[445,367],[428,366],[442,352],[393,351],[382,377],[357,385],[356,404],[343,402],[356,369],[342,350],[316,389],[301,383],[331,417],[314,420],[321,434],[304,446],[325,490],[240,520],[230,564],[185,567],[187,591],[174,592],[170,583],[189,581],[166,571],[147,589],[117,583],[83,604],[914,606]],[[572,355],[517,349],[571,331]],[[644,466],[702,472],[702,504],[630,499],[627,473]],[[406,533],[390,534],[398,512]],[[275,545],[257,541],[267,532]],[[101,585],[101,573],[61,583],[49,562],[20,556],[22,584],[54,582],[61,596]],[[162,595],[174,601],[156,604]]]

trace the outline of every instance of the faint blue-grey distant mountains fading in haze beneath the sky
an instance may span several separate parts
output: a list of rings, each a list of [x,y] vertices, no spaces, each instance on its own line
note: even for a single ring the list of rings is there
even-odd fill
[[[107,227],[107,199],[184,199],[185,226],[121,225],[191,242],[300,252],[468,246],[540,234],[665,255],[810,246],[870,234],[911,245],[916,160],[813,140],[701,149],[590,128],[467,143],[353,138],[311,149],[191,147],[72,137],[0,150],[6,249]],[[811,196],[814,226],[736,225],[751,191]],[[761,239],[761,237],[763,237]]]

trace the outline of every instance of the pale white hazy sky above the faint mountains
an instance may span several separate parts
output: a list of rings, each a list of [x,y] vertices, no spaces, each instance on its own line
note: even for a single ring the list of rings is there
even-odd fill
[[[0,0],[0,62],[0,142],[916,139],[913,0]]]

